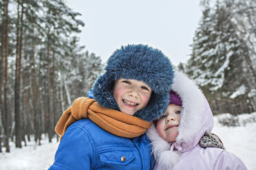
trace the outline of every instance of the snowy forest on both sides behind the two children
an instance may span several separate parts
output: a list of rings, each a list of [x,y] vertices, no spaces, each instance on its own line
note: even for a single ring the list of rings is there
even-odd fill
[[[192,53],[177,68],[200,86],[213,114],[256,111],[256,1],[203,0]],[[79,45],[86,23],[63,0],[0,0],[0,152],[41,136],[103,73]]]

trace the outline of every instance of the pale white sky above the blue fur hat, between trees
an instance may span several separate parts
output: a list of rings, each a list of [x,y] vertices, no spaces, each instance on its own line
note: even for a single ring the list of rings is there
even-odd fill
[[[202,15],[200,0],[65,0],[85,23],[81,45],[105,62],[127,44],[147,44],[186,62]]]

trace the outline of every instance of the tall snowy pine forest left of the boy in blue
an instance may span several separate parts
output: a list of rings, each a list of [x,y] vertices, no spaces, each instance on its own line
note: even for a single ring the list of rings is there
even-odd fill
[[[100,57],[78,45],[85,23],[61,0],[0,1],[0,143],[10,151],[41,134],[49,142],[62,112],[85,96],[103,71]],[[57,136],[58,137],[58,136]],[[0,145],[0,151],[2,151]]]

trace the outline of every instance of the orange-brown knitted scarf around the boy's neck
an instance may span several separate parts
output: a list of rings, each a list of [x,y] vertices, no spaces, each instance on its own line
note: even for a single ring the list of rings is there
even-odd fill
[[[104,108],[94,99],[79,97],[72,106],[65,110],[59,119],[55,132],[63,134],[72,123],[80,119],[89,118],[96,125],[116,136],[134,138],[144,134],[151,126],[151,122],[144,121],[114,109]]]

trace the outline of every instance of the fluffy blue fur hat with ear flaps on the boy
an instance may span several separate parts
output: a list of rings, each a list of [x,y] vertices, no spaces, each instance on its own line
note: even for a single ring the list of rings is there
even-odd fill
[[[124,78],[142,81],[152,89],[149,103],[138,110],[135,117],[153,121],[167,109],[174,71],[170,60],[162,51],[147,45],[122,46],[109,57],[105,70],[96,80],[93,89],[94,98],[101,106],[120,110],[111,91],[114,82]]]

